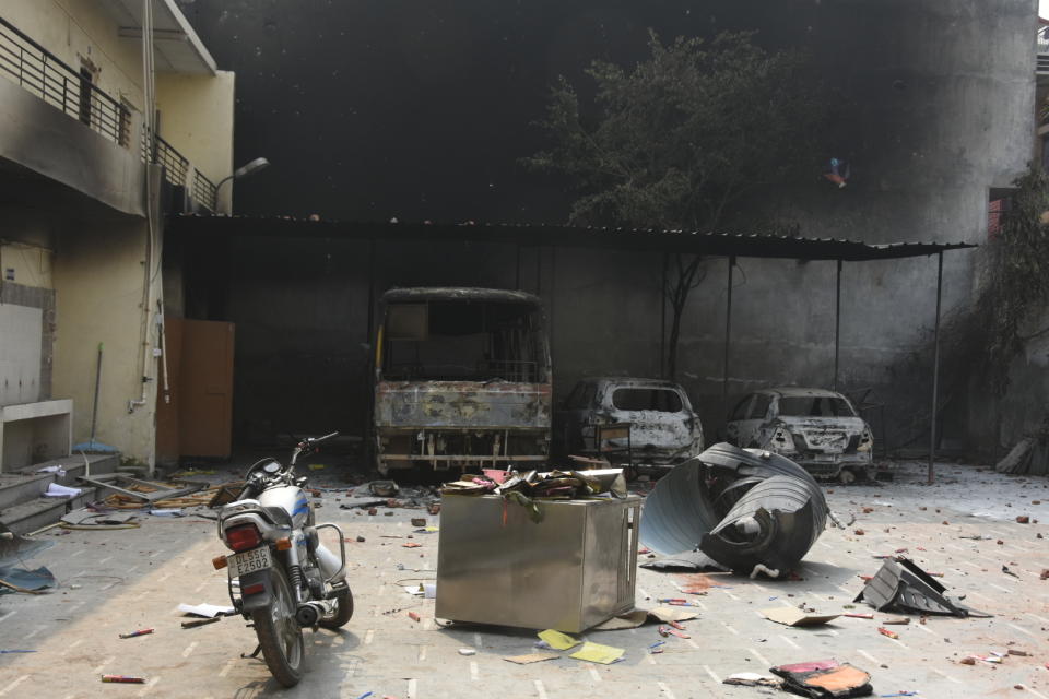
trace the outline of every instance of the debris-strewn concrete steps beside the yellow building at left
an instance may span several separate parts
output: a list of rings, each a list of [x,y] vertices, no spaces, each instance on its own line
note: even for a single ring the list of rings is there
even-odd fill
[[[114,473],[120,465],[119,454],[89,454],[92,474]],[[37,473],[47,466],[61,466],[66,473]],[[98,499],[98,489],[84,487],[76,478],[84,475],[84,457],[52,459],[11,473],[0,473],[0,523],[19,534],[27,534],[54,524],[63,514]],[[80,488],[74,498],[47,498],[51,483]]]

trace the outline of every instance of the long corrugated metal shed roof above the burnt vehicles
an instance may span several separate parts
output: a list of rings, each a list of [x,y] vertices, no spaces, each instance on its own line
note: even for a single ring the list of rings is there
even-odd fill
[[[868,244],[844,238],[804,238],[759,233],[700,233],[637,228],[575,227],[551,224],[446,224],[308,221],[280,216],[199,216],[168,218],[172,235],[280,236],[504,242],[521,246],[665,250],[711,256],[799,260],[889,260],[975,248],[968,242],[901,241]]]

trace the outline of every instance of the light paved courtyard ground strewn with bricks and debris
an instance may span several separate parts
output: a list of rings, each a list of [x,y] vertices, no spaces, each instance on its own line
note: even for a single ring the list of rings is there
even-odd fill
[[[838,516],[856,521],[845,531],[824,533],[804,561],[804,580],[716,577],[719,587],[696,597],[700,618],[686,623],[692,638],[669,639],[659,655],[646,652],[658,640],[653,626],[587,633],[626,649],[625,661],[611,666],[567,657],[518,666],[502,656],[529,652],[531,632],[440,628],[432,618],[433,601],[412,597],[397,584],[434,576],[437,535],[415,534],[423,544],[416,549],[381,537],[406,535],[410,518],[421,513],[356,514],[338,509],[339,495],[328,493],[320,519],[333,519],[350,538],[366,538],[349,545],[356,614],[342,632],[307,632],[309,672],[287,691],[275,686],[261,662],[240,659],[255,641],[238,617],[191,630],[179,627],[178,603],[226,601],[225,573],[210,564],[223,553],[212,522],[190,516],[149,518],[138,530],[64,535],[52,530],[44,536],[56,545],[26,562],[47,566],[59,589],[43,596],[0,596],[0,650],[37,651],[0,654],[0,697],[356,698],[368,691],[400,699],[761,697],[777,692],[726,686],[720,679],[833,656],[869,671],[875,695],[917,690],[927,698],[1049,699],[1049,580],[1039,580],[1049,568],[1049,540],[1036,537],[1039,532],[1049,536],[1049,481],[942,464],[940,485],[928,487],[921,485],[919,464],[899,469],[892,484],[827,486]],[[873,511],[864,513],[864,507]],[[1018,524],[1017,514],[1041,521]],[[858,529],[864,534],[857,535]],[[960,538],[973,535],[991,538]],[[859,576],[877,569],[873,556],[898,548],[908,548],[927,570],[943,572],[948,589],[993,618],[931,618],[926,625],[893,627],[899,632],[893,640],[877,633],[877,620],[841,617],[798,629],[758,614],[802,601],[820,611],[841,611],[862,587]],[[1003,565],[1018,578],[1004,574]],[[681,596],[676,585],[682,581],[641,570],[638,603]],[[409,611],[422,623],[410,619]],[[142,627],[156,632],[118,639],[119,632]],[[460,648],[478,653],[462,656]],[[1030,656],[1010,656],[1001,665],[958,663],[970,653],[1011,648]],[[102,673],[142,675],[149,684],[103,685]]]

